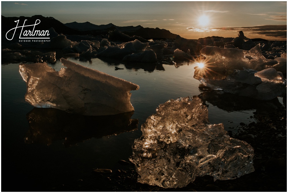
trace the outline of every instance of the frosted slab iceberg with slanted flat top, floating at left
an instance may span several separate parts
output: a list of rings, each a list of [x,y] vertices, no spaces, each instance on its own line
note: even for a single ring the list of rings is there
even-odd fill
[[[61,59],[59,72],[46,63],[20,64],[26,82],[25,100],[35,107],[57,108],[82,115],[115,115],[133,111],[126,80]]]

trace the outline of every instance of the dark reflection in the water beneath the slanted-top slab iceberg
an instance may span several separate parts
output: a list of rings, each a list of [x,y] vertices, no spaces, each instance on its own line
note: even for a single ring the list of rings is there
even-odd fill
[[[138,119],[130,119],[134,112],[107,116],[69,114],[54,108],[33,108],[26,115],[29,130],[25,143],[50,145],[63,140],[65,147],[86,139],[118,135],[137,129]]]

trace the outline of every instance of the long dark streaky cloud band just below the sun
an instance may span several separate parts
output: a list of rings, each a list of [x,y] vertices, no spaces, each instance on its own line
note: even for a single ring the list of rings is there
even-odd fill
[[[253,27],[213,27],[198,29],[187,27],[189,31],[194,32],[211,32],[211,31],[243,31],[253,35],[263,35],[273,38],[287,39],[287,25],[259,25]]]

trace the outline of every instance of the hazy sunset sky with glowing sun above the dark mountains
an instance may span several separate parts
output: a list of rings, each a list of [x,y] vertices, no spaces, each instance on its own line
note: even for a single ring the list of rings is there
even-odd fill
[[[167,29],[207,36],[287,40],[287,1],[1,1],[1,15],[54,17],[62,23]]]

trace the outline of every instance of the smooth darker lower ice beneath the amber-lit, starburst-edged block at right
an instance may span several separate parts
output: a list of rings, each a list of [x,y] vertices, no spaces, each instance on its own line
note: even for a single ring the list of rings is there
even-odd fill
[[[198,71],[201,70],[198,69]],[[272,100],[287,93],[287,80],[274,68],[259,72],[251,69],[235,70],[223,80],[212,80],[198,75],[194,75],[194,78],[213,90],[223,90],[226,93],[258,100]]]

